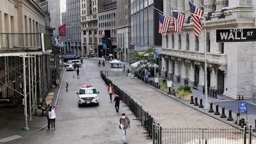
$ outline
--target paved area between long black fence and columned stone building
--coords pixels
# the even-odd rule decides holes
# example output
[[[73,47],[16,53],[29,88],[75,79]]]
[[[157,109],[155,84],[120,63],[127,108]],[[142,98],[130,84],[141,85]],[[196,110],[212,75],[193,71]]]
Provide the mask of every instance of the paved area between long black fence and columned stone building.
[[[128,67],[127,67],[128,66]],[[129,65],[125,65],[125,68],[129,68]],[[217,128],[217,127],[237,127],[235,124],[236,113],[238,113],[239,102],[246,102],[248,113],[241,113],[241,117],[244,116],[245,120],[248,118],[248,124],[255,128],[256,119],[256,104],[252,103],[252,99],[248,100],[231,100],[221,95],[218,95],[218,99],[208,97],[208,102],[212,102],[212,109],[214,113],[216,111],[216,105],[219,105],[220,115],[214,115],[209,113],[205,108],[199,108],[190,104],[189,101],[181,100],[174,95],[169,95],[167,92],[163,92],[154,86],[147,84],[140,79],[127,77],[125,72],[108,73],[108,79],[113,84],[118,86],[124,92],[129,93],[131,97],[142,106],[145,111],[148,111],[163,127],[202,127],[202,128]],[[152,77],[154,79],[154,77]],[[175,88],[179,84],[174,83]],[[205,95],[198,90],[193,89],[193,97],[197,97],[198,104],[202,99],[202,104],[205,104]],[[194,100],[195,102],[195,100]],[[221,118],[222,108],[225,108],[226,118]],[[228,121],[229,111],[232,110],[232,118],[234,120]],[[240,118],[241,118],[240,117]]]

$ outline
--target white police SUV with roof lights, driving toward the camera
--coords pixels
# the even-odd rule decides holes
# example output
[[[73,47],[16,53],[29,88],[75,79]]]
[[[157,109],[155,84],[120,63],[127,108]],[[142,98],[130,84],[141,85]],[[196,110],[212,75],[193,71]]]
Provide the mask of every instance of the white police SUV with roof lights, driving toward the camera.
[[[86,104],[99,106],[99,92],[92,85],[83,84],[77,93],[78,107]]]

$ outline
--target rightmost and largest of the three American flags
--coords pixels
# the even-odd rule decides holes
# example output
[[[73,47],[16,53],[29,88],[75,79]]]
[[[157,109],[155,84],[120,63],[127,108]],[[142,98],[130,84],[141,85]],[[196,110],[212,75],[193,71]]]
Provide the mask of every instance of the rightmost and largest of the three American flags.
[[[195,15],[192,15],[192,20],[193,20],[193,26],[194,26],[194,31],[195,35],[198,36],[202,30],[202,24],[201,24],[201,18],[202,15],[204,14],[204,11],[200,10],[197,8],[193,3],[189,1],[189,6],[190,6],[190,11],[191,13],[194,13]]]

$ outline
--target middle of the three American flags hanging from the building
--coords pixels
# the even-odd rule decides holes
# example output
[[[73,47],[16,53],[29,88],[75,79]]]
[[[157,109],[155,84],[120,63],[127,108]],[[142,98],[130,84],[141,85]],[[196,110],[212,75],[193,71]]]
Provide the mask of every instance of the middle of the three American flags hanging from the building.
[[[172,12],[173,15],[173,31],[182,33],[185,16],[179,12]]]

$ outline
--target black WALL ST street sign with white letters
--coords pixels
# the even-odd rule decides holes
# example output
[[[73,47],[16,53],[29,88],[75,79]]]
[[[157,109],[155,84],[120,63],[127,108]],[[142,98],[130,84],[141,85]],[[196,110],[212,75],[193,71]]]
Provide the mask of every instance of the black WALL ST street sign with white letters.
[[[253,42],[256,41],[255,28],[216,29],[216,42]]]

